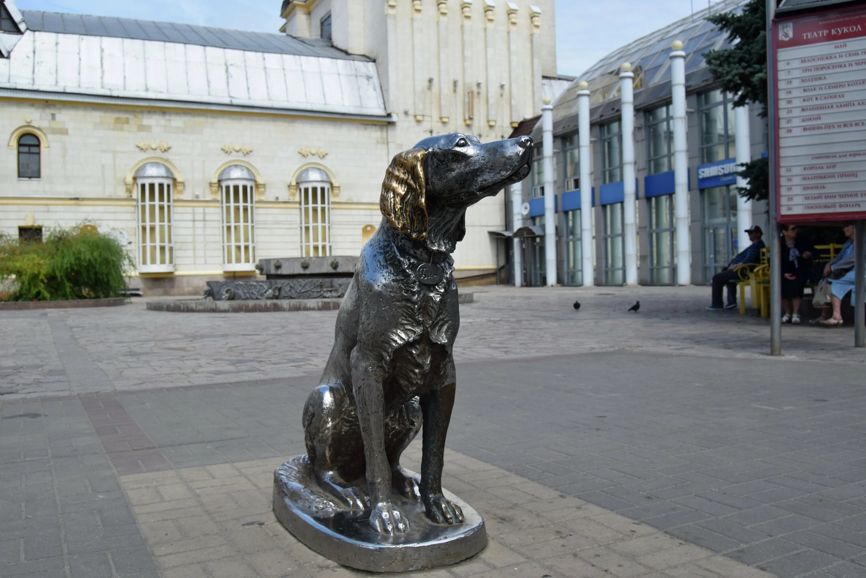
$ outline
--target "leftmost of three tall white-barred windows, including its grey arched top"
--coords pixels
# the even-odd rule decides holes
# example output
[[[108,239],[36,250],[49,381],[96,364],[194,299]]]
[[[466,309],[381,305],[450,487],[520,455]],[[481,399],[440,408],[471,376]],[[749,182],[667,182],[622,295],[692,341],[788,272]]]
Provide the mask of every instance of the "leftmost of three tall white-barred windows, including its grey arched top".
[[[174,270],[171,237],[171,197],[174,175],[162,163],[146,163],[135,172],[139,202],[139,271]]]

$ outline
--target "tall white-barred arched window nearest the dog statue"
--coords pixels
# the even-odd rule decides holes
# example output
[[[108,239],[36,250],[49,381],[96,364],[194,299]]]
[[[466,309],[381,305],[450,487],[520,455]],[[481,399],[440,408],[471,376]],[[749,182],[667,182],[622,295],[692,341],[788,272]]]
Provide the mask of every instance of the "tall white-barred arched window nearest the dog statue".
[[[301,199],[301,257],[331,255],[331,178],[310,166],[298,175]]]

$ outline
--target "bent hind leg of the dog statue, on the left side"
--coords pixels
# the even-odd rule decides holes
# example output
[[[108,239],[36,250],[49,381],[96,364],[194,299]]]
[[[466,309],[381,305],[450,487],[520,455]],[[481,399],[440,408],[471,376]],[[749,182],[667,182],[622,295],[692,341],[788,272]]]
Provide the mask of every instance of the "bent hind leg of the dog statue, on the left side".
[[[346,387],[338,381],[316,387],[304,406],[303,424],[307,455],[322,490],[350,508],[368,509],[364,442]]]

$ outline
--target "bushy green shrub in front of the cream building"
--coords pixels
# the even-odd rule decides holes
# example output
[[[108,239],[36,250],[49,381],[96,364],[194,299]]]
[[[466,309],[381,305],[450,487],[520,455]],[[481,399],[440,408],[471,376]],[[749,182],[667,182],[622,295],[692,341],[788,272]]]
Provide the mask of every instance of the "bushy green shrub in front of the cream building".
[[[0,284],[10,301],[57,301],[120,296],[132,259],[108,235],[81,225],[48,231],[42,243],[0,234]]]

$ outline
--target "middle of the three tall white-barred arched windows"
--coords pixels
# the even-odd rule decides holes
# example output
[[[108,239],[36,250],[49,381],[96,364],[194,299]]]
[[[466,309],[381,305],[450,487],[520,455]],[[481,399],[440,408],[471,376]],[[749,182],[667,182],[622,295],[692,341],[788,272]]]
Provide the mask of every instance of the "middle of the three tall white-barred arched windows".
[[[223,216],[223,270],[255,268],[255,175],[246,166],[223,169],[217,179]]]

